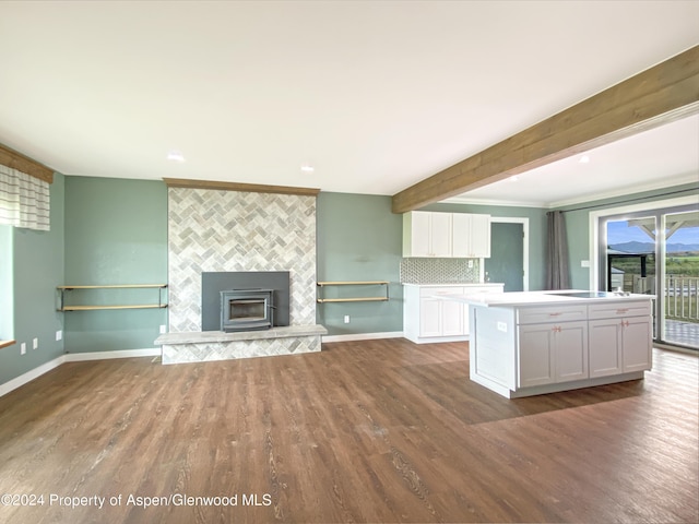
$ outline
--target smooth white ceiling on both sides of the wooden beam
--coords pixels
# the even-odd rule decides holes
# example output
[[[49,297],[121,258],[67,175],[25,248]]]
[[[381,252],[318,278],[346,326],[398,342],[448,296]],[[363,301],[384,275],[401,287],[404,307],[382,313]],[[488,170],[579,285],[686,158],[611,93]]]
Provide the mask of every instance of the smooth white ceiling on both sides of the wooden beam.
[[[698,43],[695,0],[5,0],[0,143],[66,175],[394,194]],[[698,130],[466,196],[550,205],[696,180]]]

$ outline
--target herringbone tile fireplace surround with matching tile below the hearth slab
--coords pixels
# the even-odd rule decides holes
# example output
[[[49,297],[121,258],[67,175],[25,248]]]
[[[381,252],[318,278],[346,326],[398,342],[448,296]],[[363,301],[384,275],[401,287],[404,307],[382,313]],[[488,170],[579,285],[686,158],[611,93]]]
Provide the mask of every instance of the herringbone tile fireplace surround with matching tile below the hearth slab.
[[[316,324],[316,196],[168,189],[169,332],[201,331],[201,274],[214,271],[288,271],[291,279],[289,324]],[[320,337],[289,343],[293,353],[320,349]],[[277,355],[279,338],[245,356]],[[210,355],[201,344],[180,345],[180,357],[168,360],[238,358],[212,344]],[[216,346],[216,347],[214,347]],[[249,344],[248,344],[249,346]],[[171,348],[164,345],[163,361]],[[222,357],[223,352],[223,357]],[[227,356],[226,356],[227,355]],[[167,362],[166,362],[167,364]]]

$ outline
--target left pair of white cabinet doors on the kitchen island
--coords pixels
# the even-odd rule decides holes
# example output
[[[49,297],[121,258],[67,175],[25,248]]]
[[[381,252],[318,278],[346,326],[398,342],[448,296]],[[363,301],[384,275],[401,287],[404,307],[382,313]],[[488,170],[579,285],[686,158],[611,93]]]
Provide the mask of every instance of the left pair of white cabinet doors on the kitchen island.
[[[588,378],[588,323],[559,322],[518,327],[518,386]]]

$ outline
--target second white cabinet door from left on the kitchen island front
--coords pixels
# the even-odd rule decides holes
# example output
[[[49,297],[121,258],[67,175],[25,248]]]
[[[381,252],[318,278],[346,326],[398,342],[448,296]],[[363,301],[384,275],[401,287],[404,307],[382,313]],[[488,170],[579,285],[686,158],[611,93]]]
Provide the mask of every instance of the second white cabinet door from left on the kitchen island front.
[[[588,378],[588,322],[561,322],[554,326],[556,382]]]

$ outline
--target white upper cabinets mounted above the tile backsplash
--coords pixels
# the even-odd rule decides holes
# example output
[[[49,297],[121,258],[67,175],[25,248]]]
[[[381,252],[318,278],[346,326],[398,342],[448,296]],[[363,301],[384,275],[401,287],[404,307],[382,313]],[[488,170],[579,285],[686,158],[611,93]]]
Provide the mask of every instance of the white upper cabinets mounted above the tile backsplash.
[[[403,257],[490,257],[490,216],[413,211],[403,215]]]

